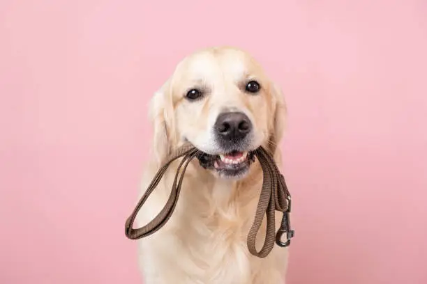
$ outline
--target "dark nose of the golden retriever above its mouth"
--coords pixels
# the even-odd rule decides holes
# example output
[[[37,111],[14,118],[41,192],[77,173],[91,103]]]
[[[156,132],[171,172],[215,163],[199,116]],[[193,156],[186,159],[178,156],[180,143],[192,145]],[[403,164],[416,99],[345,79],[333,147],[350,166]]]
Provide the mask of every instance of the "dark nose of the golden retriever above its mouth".
[[[239,141],[252,130],[252,123],[241,112],[221,113],[215,123],[216,134],[226,141]]]

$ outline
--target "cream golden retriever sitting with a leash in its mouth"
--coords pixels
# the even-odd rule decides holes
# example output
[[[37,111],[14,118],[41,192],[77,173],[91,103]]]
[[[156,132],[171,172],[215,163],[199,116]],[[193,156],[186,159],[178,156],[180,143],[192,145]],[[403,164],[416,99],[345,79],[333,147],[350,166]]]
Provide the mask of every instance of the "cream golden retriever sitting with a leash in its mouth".
[[[246,237],[262,188],[262,169],[250,151],[276,148],[285,129],[283,92],[242,49],[209,47],[186,56],[149,105],[151,153],[141,195],[183,143],[204,154],[190,162],[170,220],[138,241],[145,284],[285,283],[287,248],[251,255]],[[281,165],[280,148],[272,150]],[[177,171],[174,161],[137,215],[151,221],[165,205]],[[279,215],[279,216],[278,216]],[[276,214],[276,228],[280,226]],[[265,237],[265,218],[257,250]]]

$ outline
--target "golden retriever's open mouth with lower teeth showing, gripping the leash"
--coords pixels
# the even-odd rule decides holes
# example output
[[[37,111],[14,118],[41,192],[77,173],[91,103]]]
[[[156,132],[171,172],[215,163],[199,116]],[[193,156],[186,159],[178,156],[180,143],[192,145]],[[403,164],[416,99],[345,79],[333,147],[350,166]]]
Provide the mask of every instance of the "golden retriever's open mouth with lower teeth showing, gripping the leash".
[[[209,155],[202,152],[197,155],[200,166],[216,171],[223,178],[239,178],[245,175],[255,161],[255,154],[252,151],[240,152],[234,150],[221,155]]]

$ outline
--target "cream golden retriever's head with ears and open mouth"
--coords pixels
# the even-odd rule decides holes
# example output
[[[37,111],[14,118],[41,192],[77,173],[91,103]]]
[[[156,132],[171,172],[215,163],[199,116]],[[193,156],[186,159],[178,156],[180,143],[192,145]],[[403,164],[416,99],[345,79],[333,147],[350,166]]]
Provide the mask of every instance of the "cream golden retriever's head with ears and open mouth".
[[[153,151],[159,164],[188,141],[204,152],[200,164],[223,178],[242,178],[260,145],[283,134],[280,89],[246,52],[204,49],[183,59],[151,100]]]

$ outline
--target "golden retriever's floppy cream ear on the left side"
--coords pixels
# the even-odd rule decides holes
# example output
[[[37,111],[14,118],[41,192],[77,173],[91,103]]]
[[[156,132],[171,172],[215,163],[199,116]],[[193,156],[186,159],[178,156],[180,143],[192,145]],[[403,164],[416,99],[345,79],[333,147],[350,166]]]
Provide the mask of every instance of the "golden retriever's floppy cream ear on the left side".
[[[149,119],[153,127],[152,154],[156,164],[163,164],[170,155],[173,136],[173,105],[170,81],[154,93],[149,104]]]

